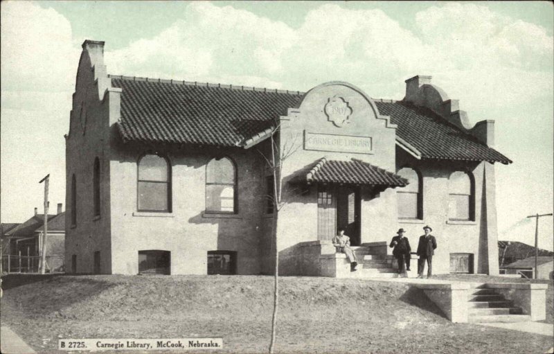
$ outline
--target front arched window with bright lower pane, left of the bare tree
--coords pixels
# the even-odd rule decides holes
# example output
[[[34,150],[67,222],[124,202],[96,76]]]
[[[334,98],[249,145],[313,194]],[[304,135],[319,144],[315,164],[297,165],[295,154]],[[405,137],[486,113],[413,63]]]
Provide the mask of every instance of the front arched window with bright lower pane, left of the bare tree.
[[[231,159],[212,159],[206,166],[206,211],[235,213],[236,173]]]

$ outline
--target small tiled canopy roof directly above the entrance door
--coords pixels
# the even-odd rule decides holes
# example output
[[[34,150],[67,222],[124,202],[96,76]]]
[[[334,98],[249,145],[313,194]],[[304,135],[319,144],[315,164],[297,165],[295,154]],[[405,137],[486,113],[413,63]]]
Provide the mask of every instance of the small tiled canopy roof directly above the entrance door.
[[[408,181],[393,172],[388,172],[370,163],[352,159],[317,161],[306,175],[306,182],[364,184],[370,186],[406,186]]]

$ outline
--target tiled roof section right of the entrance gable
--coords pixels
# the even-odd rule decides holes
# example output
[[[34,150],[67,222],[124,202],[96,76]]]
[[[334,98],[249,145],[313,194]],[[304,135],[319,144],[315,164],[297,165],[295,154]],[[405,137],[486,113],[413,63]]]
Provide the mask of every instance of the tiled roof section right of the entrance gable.
[[[422,159],[512,162],[430,109],[402,102],[375,103],[380,114],[391,116],[398,125],[396,136],[416,148]]]

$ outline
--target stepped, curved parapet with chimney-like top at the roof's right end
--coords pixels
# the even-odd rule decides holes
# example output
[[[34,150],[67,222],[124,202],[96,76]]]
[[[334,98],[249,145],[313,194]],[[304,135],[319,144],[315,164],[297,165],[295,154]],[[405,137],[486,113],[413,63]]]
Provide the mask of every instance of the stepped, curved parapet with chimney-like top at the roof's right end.
[[[443,89],[431,84],[431,76],[414,76],[406,82],[406,96],[404,101],[418,107],[431,109],[445,118],[449,123],[472,134],[488,146],[494,145],[494,121],[480,121],[471,126],[467,113],[460,109],[458,100],[448,98]]]

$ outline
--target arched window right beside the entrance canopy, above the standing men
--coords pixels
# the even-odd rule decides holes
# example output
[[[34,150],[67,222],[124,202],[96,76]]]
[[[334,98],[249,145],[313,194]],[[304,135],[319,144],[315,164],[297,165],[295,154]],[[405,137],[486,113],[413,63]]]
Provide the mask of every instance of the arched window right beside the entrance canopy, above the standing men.
[[[423,219],[422,181],[417,171],[404,167],[397,175],[408,180],[409,184],[397,192],[398,218]]]

